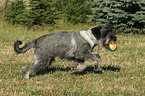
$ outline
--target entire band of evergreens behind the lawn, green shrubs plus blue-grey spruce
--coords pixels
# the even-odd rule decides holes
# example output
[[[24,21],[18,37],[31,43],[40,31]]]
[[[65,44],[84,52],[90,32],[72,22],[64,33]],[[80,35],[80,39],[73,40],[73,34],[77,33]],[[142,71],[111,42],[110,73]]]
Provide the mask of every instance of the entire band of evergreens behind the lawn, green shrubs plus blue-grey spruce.
[[[125,33],[145,33],[144,0],[15,0],[5,11],[13,24],[55,24],[58,19],[70,23],[112,23]],[[29,3],[29,4],[27,4]]]

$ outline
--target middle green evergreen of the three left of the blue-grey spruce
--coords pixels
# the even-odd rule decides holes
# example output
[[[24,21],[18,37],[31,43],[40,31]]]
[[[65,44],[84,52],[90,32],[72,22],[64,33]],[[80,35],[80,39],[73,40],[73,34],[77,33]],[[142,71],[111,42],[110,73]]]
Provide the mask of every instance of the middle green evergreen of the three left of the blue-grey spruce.
[[[31,0],[29,6],[31,9],[27,13],[28,26],[55,24],[59,12],[54,4],[55,1],[53,0]]]

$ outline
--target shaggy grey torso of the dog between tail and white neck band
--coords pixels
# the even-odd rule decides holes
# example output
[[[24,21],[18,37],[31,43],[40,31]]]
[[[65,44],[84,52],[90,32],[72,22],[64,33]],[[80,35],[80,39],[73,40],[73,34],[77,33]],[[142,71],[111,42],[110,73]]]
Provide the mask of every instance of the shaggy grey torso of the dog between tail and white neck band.
[[[86,44],[89,46],[79,32],[58,32],[36,39],[35,53],[43,57],[74,58],[74,54],[83,51],[81,47]]]

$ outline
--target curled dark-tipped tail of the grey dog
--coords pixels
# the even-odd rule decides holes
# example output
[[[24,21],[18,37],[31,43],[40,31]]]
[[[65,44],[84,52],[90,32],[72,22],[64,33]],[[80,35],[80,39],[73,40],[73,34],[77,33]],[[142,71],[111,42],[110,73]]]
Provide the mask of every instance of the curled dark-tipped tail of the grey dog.
[[[34,47],[34,41],[26,43],[22,48],[19,48],[19,45],[21,44],[22,44],[22,41],[19,41],[19,40],[14,43],[14,50],[17,54],[25,53],[30,48]]]

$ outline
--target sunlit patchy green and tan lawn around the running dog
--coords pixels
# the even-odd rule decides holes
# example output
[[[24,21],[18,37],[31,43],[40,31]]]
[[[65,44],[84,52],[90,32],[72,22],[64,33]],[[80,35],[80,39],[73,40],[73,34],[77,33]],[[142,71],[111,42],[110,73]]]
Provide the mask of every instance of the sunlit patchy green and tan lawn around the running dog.
[[[24,43],[41,35],[62,30],[74,31],[91,28],[91,25],[65,25],[42,30],[26,30],[0,21],[0,94],[1,96],[143,96],[145,94],[145,35],[118,34],[118,49],[101,52],[103,70],[93,71],[88,61],[84,74],[71,75],[73,62],[56,59],[46,75],[25,80],[21,68],[33,63],[32,49],[25,54],[14,53],[13,44]]]

